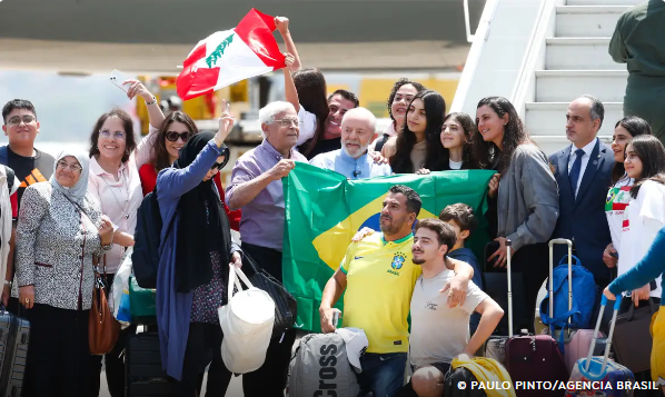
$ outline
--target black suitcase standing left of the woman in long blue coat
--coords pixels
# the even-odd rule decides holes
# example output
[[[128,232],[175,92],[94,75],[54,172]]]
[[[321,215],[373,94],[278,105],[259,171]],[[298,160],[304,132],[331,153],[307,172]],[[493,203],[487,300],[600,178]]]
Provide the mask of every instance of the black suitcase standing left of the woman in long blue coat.
[[[178,388],[168,381],[161,369],[159,335],[141,333],[127,338],[125,349],[125,396],[178,396]]]

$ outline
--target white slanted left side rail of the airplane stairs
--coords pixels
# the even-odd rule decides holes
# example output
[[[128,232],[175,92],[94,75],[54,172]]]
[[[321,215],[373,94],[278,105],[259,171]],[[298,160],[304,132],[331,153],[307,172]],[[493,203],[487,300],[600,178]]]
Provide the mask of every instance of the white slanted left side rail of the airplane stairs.
[[[480,54],[483,53],[483,48],[485,47],[485,42],[487,42],[487,38],[489,37],[489,29],[492,27],[492,20],[494,19],[498,1],[499,0],[487,0],[485,8],[483,9],[483,14],[480,16],[480,21],[478,22],[478,28],[474,34],[470,34],[468,0],[464,0],[466,36],[467,40],[472,42],[472,48],[469,49],[469,53],[466,58],[466,63],[461,72],[461,77],[459,78],[457,90],[455,91],[453,105],[450,105],[451,112],[463,111],[468,91],[470,89],[472,82],[474,81],[474,77],[476,76],[476,69],[478,68],[478,61],[480,59]]]

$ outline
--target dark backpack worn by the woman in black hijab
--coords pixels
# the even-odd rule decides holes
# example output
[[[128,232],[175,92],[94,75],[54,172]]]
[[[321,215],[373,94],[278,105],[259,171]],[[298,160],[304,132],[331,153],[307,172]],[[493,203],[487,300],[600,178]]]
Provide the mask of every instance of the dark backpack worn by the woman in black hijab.
[[[173,216],[172,219],[175,218]],[[169,228],[172,225],[172,219]],[[137,228],[133,234],[131,265],[133,267],[133,276],[141,288],[157,287],[161,227],[161,214],[159,212],[159,202],[157,201],[157,187],[155,187],[155,190],[143,197],[139,206]]]

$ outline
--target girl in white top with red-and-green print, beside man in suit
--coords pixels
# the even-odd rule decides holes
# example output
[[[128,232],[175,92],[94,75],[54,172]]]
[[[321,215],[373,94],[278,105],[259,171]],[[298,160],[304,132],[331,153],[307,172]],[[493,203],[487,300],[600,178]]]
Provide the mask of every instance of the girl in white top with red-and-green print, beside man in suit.
[[[624,158],[626,145],[641,135],[651,135],[652,128],[645,120],[635,117],[624,117],[617,121],[612,137],[612,150],[614,151],[614,169],[612,170],[612,188],[607,192],[605,201],[605,215],[609,225],[612,242],[603,252],[603,261],[607,267],[614,268],[617,264],[618,249],[621,248],[624,212],[631,201],[631,187],[635,183],[633,178],[626,175]]]

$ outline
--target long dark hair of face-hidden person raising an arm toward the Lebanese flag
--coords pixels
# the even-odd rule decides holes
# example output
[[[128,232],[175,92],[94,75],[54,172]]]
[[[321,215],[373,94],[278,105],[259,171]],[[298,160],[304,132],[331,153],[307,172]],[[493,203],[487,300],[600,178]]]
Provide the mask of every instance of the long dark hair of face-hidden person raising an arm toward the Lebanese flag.
[[[317,141],[324,133],[324,123],[330,112],[328,98],[326,98],[328,88],[324,73],[316,68],[305,68],[295,72],[294,85],[296,86],[296,91],[298,91],[300,106],[316,116],[316,131],[314,132],[314,137],[305,143],[304,155],[307,156],[314,150]]]

